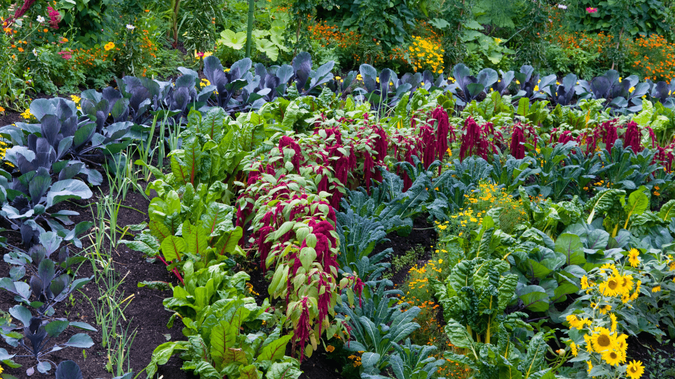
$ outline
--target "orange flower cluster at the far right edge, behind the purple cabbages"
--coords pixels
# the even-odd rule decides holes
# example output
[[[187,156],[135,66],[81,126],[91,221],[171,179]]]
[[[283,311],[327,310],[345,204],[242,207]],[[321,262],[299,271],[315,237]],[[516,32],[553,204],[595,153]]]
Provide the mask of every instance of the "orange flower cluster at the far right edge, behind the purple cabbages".
[[[637,38],[628,49],[630,66],[645,80],[675,78],[675,44],[658,34]]]

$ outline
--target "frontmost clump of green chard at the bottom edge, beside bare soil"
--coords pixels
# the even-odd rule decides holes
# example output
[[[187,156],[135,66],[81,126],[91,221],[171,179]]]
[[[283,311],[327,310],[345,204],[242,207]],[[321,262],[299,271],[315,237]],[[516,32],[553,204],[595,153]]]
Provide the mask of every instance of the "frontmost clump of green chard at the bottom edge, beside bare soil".
[[[148,378],[157,372],[158,364],[178,352],[186,360],[182,369],[203,379],[300,376],[298,361],[285,355],[292,335],[282,337],[281,326],[273,328],[275,315],[266,312],[267,301],[261,306],[245,297],[248,274],[230,276],[223,268],[215,264],[192,271],[189,262],[184,266],[186,286],[174,287],[173,297],[165,299],[164,305],[177,312],[170,324],[180,315],[188,341],[159,345],[146,368]],[[263,325],[269,331],[260,330]],[[252,332],[244,334],[248,330]]]

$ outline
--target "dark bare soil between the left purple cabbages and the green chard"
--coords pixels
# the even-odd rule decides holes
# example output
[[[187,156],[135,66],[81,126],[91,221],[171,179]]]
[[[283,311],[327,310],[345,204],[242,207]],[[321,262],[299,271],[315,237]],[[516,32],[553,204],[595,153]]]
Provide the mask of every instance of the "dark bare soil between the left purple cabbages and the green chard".
[[[103,173],[105,177],[105,173]],[[63,202],[63,206],[58,204],[55,208],[60,209],[69,209],[80,212],[79,216],[72,216],[71,220],[74,223],[81,221],[92,221],[92,208],[95,210],[95,202],[103,195],[109,192],[107,183],[99,187],[92,188],[94,196],[88,200],[78,200],[74,202]],[[91,204],[92,207],[88,206]],[[118,226],[121,229],[124,229],[126,225],[138,224],[143,221],[148,221],[148,217],[145,212],[148,209],[148,200],[146,200],[141,194],[137,192],[129,192],[127,198],[122,202],[124,206],[130,207],[119,208],[118,214]],[[132,209],[135,208],[136,210]],[[137,210],[140,210],[138,212]],[[8,230],[9,225],[0,225],[0,227],[5,227]],[[5,231],[3,235],[7,236],[8,242],[13,245],[20,245],[20,236],[16,232]],[[88,237],[80,237],[82,240],[82,249],[70,246],[70,254],[84,254],[83,250],[86,250],[87,247],[91,245],[91,241]],[[127,235],[126,239],[132,239],[132,236]],[[108,244],[105,243],[105,250],[107,250]],[[7,251],[0,249],[0,254],[5,254]],[[159,291],[155,289],[149,289],[148,287],[137,287],[137,284],[141,281],[166,281],[170,282],[173,285],[177,283],[175,276],[168,272],[165,268],[165,265],[156,260],[153,263],[146,262],[146,259],[139,252],[135,252],[126,247],[126,245],[118,245],[117,249],[112,251],[113,262],[115,265],[115,272],[117,274],[117,280],[123,280],[123,283],[119,287],[119,291],[124,293],[126,298],[129,295],[134,297],[130,301],[126,310],[124,310],[124,316],[129,320],[129,332],[136,331],[136,339],[131,347],[130,351],[130,363],[132,370],[134,372],[139,372],[150,362],[151,355],[153,350],[158,345],[165,343],[166,341],[176,341],[184,339],[182,335],[182,328],[180,322],[174,324],[173,328],[167,329],[167,322],[171,316],[170,312],[164,310],[162,301],[165,297],[170,297],[170,291]],[[79,268],[77,272],[78,278],[92,276],[92,267],[88,261],[85,261]],[[9,265],[6,262],[0,261],[0,276],[9,275]],[[104,349],[101,346],[101,329],[96,324],[94,318],[94,312],[92,307],[87,299],[91,301],[98,301],[99,291],[96,288],[96,284],[92,281],[85,285],[81,293],[74,293],[72,299],[66,299],[62,303],[59,303],[55,306],[56,313],[54,317],[63,317],[68,318],[70,321],[82,321],[88,322],[88,324],[94,326],[94,328],[99,329],[97,332],[83,331],[75,328],[68,328],[63,332],[56,341],[53,343],[64,343],[68,339],[78,332],[86,332],[92,337],[94,345],[89,349],[85,349],[86,358],[82,349],[76,348],[65,348],[55,353],[51,353],[47,356],[51,361],[58,363],[65,359],[72,359],[78,363],[85,378],[112,378],[113,374],[110,374],[105,370],[105,365],[107,363],[107,349]],[[16,305],[13,297],[7,291],[0,291],[0,310],[7,310]],[[15,321],[16,323],[16,321]],[[20,324],[20,322],[18,322]],[[124,324],[126,328],[126,323]],[[12,348],[9,345],[3,344],[3,348],[11,354],[18,353],[19,355],[24,355],[25,352],[20,348]],[[17,378],[26,378],[26,369],[30,368],[35,364],[33,358],[28,357],[16,357],[14,359],[17,363],[22,364],[21,368],[5,368],[5,373],[12,374]],[[192,375],[188,375],[186,372],[180,370],[182,366],[182,361],[178,356],[173,356],[167,364],[159,366],[158,374],[159,376],[164,376],[164,378],[194,378]],[[126,366],[125,366],[126,367]],[[51,370],[49,376],[39,374],[36,372],[34,377],[45,378],[53,377],[54,369]],[[144,374],[141,375],[144,378]]]

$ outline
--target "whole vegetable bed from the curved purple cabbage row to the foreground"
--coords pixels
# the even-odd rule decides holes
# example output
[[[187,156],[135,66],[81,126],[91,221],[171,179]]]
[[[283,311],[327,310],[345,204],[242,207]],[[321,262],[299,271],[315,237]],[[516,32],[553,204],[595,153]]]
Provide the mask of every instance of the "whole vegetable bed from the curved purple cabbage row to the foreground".
[[[672,376],[675,79],[232,60],[0,127],[2,378]]]

